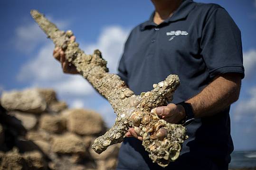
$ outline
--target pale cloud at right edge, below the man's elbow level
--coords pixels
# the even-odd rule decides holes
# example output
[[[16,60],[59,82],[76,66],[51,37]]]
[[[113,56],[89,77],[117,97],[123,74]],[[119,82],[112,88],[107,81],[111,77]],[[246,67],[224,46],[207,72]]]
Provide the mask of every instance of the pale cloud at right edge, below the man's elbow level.
[[[250,97],[246,100],[240,100],[234,109],[235,121],[239,121],[245,116],[251,116],[256,121],[256,86],[249,89],[248,93]]]

